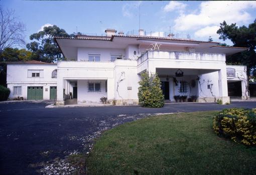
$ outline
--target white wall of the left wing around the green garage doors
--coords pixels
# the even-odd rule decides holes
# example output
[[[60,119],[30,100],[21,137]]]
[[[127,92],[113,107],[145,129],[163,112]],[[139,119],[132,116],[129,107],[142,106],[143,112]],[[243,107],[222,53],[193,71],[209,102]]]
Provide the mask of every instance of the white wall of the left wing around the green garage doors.
[[[57,78],[52,78],[52,71],[57,69],[56,64],[8,64],[7,86],[11,93],[9,98],[23,97],[27,99],[28,86],[43,86],[43,99],[50,99],[50,86],[57,86]],[[28,70],[44,70],[43,77],[28,77]],[[22,95],[14,95],[13,87],[22,86]]]

